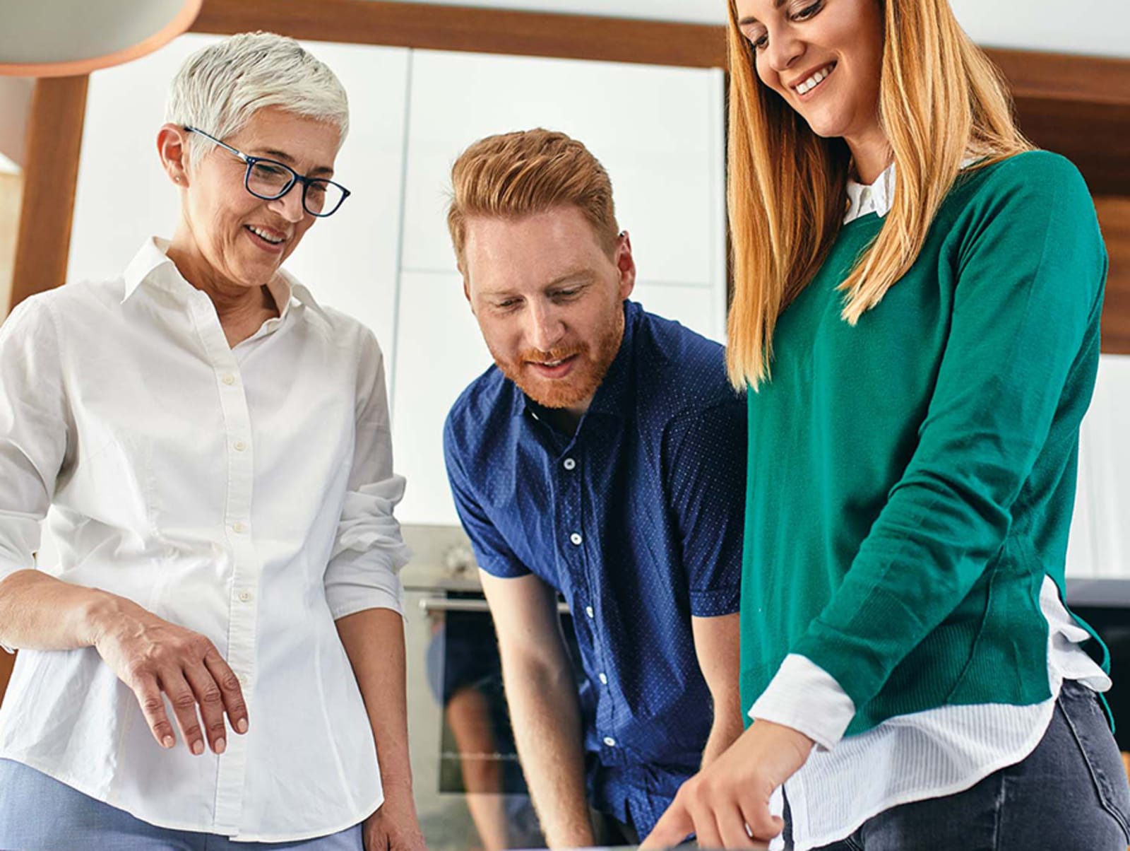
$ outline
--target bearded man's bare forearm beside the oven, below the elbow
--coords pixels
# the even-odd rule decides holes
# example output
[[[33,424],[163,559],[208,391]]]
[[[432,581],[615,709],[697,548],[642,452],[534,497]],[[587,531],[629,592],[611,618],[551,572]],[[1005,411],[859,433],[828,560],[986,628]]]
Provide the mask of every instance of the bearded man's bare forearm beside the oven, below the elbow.
[[[571,672],[507,664],[503,678],[518,755],[550,848],[591,845],[584,747]]]

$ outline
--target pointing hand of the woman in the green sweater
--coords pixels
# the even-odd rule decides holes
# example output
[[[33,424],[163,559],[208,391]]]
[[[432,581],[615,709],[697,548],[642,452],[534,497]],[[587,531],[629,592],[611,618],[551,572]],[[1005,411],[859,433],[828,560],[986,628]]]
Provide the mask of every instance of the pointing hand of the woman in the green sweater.
[[[779,835],[784,823],[770,815],[770,797],[805,764],[812,745],[790,727],[755,722],[683,784],[641,849],[673,848],[692,833],[699,848],[754,848]]]

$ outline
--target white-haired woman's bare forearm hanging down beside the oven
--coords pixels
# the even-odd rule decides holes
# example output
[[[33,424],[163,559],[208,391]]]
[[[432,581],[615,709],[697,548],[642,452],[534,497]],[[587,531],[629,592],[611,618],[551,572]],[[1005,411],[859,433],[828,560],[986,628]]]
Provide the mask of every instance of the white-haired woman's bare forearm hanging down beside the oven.
[[[366,609],[337,627],[373,728],[384,797],[410,802],[403,618],[391,609]]]

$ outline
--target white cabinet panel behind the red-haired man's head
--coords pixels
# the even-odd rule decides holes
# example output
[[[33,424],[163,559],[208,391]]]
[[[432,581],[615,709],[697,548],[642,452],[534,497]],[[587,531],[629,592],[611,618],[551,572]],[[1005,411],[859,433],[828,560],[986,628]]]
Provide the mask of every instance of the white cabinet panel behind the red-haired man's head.
[[[721,71],[417,51],[410,115],[406,269],[453,267],[443,214],[459,153],[546,127],[608,170],[652,280],[724,286]]]

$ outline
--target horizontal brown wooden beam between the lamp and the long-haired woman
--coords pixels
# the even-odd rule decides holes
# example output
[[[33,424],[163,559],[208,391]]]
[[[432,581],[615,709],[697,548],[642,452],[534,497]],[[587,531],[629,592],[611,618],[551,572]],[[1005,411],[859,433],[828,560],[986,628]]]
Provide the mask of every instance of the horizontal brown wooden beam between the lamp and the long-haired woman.
[[[383,0],[205,0],[192,31],[232,34],[264,25],[314,41],[694,68],[725,65],[720,26]]]

